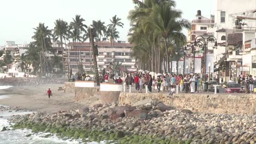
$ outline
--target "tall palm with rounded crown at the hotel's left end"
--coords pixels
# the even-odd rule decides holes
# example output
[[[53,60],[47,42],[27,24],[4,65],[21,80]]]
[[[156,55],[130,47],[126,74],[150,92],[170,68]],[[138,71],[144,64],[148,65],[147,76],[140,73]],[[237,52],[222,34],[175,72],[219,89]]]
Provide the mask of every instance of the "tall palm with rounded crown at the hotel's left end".
[[[63,56],[64,48],[63,48],[62,39],[63,38],[65,39],[68,36],[68,23],[66,21],[59,19],[59,20],[56,20],[54,24],[55,24],[55,27],[54,27],[53,35],[56,37],[56,39],[60,38],[61,50],[62,50],[62,65],[63,65],[63,70],[65,70],[64,56]]]

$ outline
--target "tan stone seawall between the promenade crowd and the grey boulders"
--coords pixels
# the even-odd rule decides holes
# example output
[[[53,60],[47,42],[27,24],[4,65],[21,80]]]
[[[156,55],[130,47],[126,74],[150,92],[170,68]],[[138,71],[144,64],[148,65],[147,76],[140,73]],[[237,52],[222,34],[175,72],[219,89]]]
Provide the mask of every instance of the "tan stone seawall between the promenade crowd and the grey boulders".
[[[256,114],[256,95],[250,94],[174,94],[167,93],[120,93],[119,105],[139,105],[162,101],[176,109],[189,109],[202,113],[251,113]],[[139,103],[141,101],[141,103]]]

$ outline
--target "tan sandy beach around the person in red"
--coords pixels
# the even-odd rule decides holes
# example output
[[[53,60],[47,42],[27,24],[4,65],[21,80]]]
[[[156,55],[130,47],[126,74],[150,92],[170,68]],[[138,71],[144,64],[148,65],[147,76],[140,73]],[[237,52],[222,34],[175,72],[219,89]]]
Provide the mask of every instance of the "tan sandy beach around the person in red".
[[[75,93],[57,91],[61,84],[44,84],[37,86],[19,86],[3,89],[0,95],[9,95],[9,98],[0,99],[0,105],[19,106],[22,109],[37,112],[57,112],[63,110],[77,110],[85,106],[100,103],[99,97],[91,97],[83,102],[75,102]],[[46,94],[48,88],[53,92],[50,99]]]

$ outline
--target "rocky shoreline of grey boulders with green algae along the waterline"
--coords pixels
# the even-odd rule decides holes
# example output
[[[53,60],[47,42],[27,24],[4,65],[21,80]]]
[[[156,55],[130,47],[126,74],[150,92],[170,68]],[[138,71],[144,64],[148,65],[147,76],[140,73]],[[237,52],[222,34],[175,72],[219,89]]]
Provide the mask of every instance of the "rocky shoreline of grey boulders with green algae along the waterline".
[[[158,101],[132,106],[97,104],[77,111],[13,116],[14,129],[109,143],[256,143],[256,115],[193,113]]]

